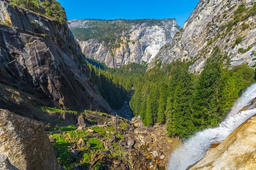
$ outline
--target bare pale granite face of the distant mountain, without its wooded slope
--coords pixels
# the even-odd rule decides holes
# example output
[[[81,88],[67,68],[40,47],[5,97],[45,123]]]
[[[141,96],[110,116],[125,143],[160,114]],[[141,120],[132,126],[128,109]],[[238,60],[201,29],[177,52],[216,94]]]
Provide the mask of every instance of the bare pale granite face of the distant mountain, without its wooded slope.
[[[73,28],[86,30],[87,28],[96,27],[96,25],[89,25],[91,22],[99,21],[70,20],[69,28],[71,30]],[[123,24],[122,20],[105,22]],[[119,68],[130,62],[151,62],[160,48],[172,41],[176,31],[179,29],[175,19],[161,20],[158,24],[149,24],[148,22],[130,24],[128,29],[116,34],[115,43],[117,47],[111,47],[105,41],[94,38],[84,41],[82,40],[83,38],[76,36],[76,34],[74,35],[78,38],[77,40],[85,57],[104,62],[111,68]]]

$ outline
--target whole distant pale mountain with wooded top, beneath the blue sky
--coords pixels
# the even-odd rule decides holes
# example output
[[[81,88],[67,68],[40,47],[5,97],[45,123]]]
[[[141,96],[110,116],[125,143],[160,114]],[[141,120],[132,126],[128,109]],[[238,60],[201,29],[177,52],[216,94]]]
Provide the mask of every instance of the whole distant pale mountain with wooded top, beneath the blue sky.
[[[68,26],[85,57],[111,68],[151,62],[180,29],[175,19],[70,20]]]

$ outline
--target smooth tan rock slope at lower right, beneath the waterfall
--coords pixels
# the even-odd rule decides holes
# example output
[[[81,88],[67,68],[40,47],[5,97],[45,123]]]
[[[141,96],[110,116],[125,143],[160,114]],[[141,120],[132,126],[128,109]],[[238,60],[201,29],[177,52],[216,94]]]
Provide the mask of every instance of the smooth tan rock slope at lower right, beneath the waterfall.
[[[198,161],[191,170],[253,170],[256,167],[256,115]]]

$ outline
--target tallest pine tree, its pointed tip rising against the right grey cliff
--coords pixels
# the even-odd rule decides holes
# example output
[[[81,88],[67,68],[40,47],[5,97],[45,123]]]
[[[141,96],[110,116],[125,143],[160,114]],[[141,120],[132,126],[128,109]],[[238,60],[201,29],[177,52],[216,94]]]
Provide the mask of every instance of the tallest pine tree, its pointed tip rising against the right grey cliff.
[[[207,59],[198,85],[195,90],[194,123],[195,126],[211,127],[218,125],[221,119],[220,97],[223,70],[223,55],[218,47],[214,49],[212,57]],[[202,127],[201,127],[202,126]]]

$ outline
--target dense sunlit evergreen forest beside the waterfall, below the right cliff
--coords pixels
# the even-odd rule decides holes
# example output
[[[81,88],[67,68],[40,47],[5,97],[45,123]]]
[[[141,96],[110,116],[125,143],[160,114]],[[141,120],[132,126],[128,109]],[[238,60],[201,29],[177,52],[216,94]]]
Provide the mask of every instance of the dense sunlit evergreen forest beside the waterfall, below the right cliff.
[[[186,139],[198,130],[218,126],[241,92],[254,82],[247,65],[230,68],[230,59],[215,47],[199,75],[192,62],[161,63],[134,82],[130,106],[145,126],[165,123],[170,136]]]

